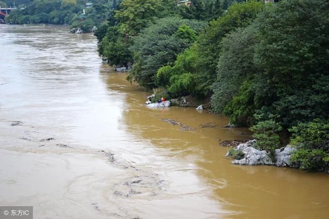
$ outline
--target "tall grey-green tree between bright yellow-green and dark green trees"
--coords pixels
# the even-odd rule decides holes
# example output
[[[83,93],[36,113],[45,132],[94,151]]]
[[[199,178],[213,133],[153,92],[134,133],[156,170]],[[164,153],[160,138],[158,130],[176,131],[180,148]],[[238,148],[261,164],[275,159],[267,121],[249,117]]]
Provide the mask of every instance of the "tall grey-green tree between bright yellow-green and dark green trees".
[[[242,83],[248,77],[257,74],[258,69],[253,63],[255,44],[257,42],[255,25],[250,25],[247,28],[239,28],[228,34],[221,42],[223,50],[217,65],[217,79],[212,85],[214,94],[211,97],[211,104],[215,113],[223,113],[228,103],[239,92]],[[253,96],[250,98],[250,101],[253,103]],[[242,105],[241,107],[245,106]],[[250,114],[247,115],[247,112]],[[244,118],[251,122],[250,117],[253,116],[254,112],[242,108],[240,113],[233,111],[232,113],[238,116],[240,113],[244,113]],[[232,114],[228,115],[232,117]],[[237,118],[232,118],[237,121]],[[246,121],[240,121],[240,123],[250,125]]]

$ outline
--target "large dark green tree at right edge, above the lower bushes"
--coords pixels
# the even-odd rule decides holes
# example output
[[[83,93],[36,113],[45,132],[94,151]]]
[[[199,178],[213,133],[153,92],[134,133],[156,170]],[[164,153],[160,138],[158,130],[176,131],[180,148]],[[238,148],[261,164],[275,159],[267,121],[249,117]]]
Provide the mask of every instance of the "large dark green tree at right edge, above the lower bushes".
[[[278,110],[291,127],[328,115],[329,3],[320,0],[282,1],[258,18],[261,41],[255,63],[257,98]]]

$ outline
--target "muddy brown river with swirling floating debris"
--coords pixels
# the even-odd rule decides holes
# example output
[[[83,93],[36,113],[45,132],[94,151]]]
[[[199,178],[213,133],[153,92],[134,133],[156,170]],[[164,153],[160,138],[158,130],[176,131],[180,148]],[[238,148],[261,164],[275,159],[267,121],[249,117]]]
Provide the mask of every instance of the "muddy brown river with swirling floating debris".
[[[329,175],[231,165],[218,141],[246,129],[145,107],[149,93],[101,62],[95,36],[0,25],[0,48],[0,206],[43,219],[328,218]]]

